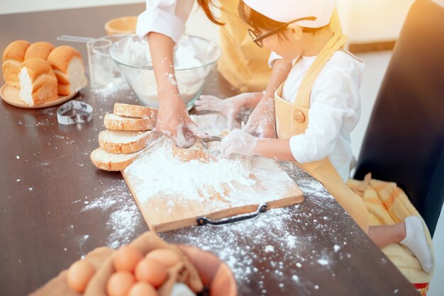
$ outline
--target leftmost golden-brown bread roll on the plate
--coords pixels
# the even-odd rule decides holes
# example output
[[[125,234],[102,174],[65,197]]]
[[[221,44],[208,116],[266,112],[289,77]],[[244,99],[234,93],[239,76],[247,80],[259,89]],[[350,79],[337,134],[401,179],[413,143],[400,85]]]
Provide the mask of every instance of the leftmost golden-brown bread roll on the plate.
[[[30,42],[25,40],[16,40],[9,44],[3,52],[3,78],[6,84],[16,87],[20,87],[18,81],[18,73],[20,72],[21,63],[25,59],[26,50]]]

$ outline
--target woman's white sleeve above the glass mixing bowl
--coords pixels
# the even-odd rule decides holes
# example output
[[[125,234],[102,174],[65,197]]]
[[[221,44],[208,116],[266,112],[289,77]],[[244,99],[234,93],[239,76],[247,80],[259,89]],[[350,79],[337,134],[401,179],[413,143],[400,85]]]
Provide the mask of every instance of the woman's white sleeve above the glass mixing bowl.
[[[185,31],[185,23],[194,0],[146,0],[146,10],[140,13],[135,33],[140,38],[150,32],[167,35],[177,42]]]

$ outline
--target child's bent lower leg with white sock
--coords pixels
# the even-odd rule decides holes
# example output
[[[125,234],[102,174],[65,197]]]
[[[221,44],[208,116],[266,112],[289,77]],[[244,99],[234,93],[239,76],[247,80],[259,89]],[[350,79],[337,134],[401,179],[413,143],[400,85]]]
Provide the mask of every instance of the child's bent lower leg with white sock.
[[[433,270],[432,252],[427,244],[423,223],[418,217],[410,216],[394,225],[369,227],[368,235],[380,248],[387,244],[404,244],[418,258],[424,271],[431,273]]]

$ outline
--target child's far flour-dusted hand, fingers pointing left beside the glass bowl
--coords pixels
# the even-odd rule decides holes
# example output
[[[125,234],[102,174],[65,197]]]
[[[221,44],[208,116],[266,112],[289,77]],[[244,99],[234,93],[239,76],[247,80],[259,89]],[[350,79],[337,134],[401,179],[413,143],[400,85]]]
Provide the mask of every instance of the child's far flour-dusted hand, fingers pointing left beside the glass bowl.
[[[235,126],[235,118],[243,107],[247,107],[252,93],[240,93],[238,96],[220,99],[216,96],[200,96],[196,100],[196,110],[209,110],[220,112],[227,117],[227,125],[230,130]]]

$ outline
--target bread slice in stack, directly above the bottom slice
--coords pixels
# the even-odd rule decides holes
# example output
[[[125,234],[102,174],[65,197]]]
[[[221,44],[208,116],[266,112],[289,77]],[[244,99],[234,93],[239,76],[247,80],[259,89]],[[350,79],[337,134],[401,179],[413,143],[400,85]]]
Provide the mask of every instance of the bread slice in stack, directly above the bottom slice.
[[[161,133],[157,130],[148,132],[133,132],[126,130],[104,130],[99,133],[99,145],[106,152],[128,154],[138,152],[147,147]]]

